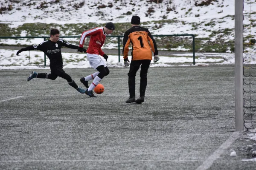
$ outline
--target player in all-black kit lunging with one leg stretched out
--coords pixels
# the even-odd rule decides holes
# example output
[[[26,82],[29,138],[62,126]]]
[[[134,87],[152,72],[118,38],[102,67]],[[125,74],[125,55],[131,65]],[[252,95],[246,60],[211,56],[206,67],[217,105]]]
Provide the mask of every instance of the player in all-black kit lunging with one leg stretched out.
[[[50,68],[51,73],[36,73],[35,71],[32,71],[32,73],[28,77],[28,81],[33,78],[39,78],[39,79],[51,79],[55,80],[57,77],[61,77],[63,79],[66,79],[68,84],[75,88],[77,91],[79,91],[81,94],[85,93],[85,90],[80,88],[76,82],[65,73],[63,70],[63,62],[62,62],[62,56],[61,56],[61,47],[65,46],[67,48],[72,49],[78,49],[79,46],[72,45],[67,41],[64,41],[62,39],[59,39],[60,31],[58,29],[52,29],[50,33],[50,39],[48,41],[44,41],[39,45],[31,45],[26,48],[21,48],[17,52],[17,56],[22,51],[30,51],[30,50],[40,50],[43,51],[44,54],[47,55],[47,57],[50,59]],[[86,52],[86,50],[83,48],[83,52]]]

